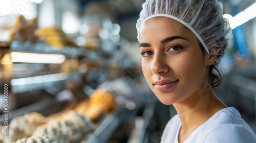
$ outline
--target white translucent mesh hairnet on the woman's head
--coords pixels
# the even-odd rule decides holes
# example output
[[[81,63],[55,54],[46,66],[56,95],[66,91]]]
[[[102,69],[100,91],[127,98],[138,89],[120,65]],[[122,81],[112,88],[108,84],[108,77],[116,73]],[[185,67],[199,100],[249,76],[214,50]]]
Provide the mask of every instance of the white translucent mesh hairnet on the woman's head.
[[[209,55],[218,55],[216,66],[232,40],[229,22],[222,12],[222,3],[216,0],[146,0],[136,23],[138,40],[140,27],[147,19],[169,17],[193,32]]]

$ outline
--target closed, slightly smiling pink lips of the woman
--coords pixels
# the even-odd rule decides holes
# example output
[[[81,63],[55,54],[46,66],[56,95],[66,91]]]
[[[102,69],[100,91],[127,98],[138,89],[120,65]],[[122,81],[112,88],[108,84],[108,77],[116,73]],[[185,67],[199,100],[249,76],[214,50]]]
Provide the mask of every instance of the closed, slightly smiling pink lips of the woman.
[[[174,87],[178,81],[179,80],[161,80],[155,81],[153,84],[157,90],[164,92]]]

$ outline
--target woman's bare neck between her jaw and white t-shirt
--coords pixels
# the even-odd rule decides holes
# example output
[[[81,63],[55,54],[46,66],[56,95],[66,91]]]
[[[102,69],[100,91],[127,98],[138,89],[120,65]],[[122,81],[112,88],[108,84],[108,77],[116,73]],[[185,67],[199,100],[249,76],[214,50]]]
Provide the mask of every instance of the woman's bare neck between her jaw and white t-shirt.
[[[203,94],[189,96],[182,102],[173,104],[182,123],[180,135],[187,138],[195,129],[204,124],[212,115],[227,106],[210,89]]]

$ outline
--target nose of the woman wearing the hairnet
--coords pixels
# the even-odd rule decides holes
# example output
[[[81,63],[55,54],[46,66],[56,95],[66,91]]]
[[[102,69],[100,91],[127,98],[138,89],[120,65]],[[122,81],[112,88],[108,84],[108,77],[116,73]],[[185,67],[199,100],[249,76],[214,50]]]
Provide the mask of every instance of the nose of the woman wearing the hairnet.
[[[164,55],[157,53],[154,54],[153,63],[151,65],[151,71],[156,75],[168,73],[169,67],[167,65],[167,61]]]

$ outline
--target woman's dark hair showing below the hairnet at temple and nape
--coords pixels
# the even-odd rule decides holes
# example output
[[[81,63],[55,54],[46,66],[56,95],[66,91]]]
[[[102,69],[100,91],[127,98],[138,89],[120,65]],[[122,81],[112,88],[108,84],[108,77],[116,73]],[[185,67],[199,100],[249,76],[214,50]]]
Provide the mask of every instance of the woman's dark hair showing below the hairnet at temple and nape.
[[[199,44],[200,44],[200,49],[201,49],[203,55],[205,55],[206,51],[205,51],[202,43],[199,42]],[[217,71],[218,74],[216,72],[214,72],[214,69]],[[209,66],[209,83],[210,83],[211,87],[214,88],[214,87],[219,86],[221,84],[221,80],[222,80],[222,77],[221,77],[221,73],[218,70],[218,68],[215,67],[214,64],[210,65]]]

